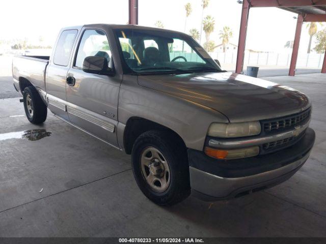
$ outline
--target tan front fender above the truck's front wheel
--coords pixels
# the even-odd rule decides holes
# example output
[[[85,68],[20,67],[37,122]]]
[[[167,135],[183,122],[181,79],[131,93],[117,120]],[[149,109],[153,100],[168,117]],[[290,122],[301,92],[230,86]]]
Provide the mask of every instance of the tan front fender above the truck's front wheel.
[[[197,150],[203,149],[211,123],[229,122],[216,110],[140,86],[137,76],[125,75],[119,96],[119,123],[126,125],[130,117],[145,118],[165,126],[176,132],[188,148]],[[118,140],[120,137],[123,133],[118,129]]]

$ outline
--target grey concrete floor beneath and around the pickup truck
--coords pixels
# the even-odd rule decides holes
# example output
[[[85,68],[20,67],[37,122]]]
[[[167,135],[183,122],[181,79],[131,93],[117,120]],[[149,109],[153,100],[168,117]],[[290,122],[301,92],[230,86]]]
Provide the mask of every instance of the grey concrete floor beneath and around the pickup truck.
[[[51,114],[34,126],[15,116],[24,114],[19,98],[0,100],[0,236],[326,237],[326,75],[266,79],[312,99],[312,155],[283,184],[212,205],[189,197],[156,206],[135,184],[129,156]],[[51,135],[4,139],[31,129]]]

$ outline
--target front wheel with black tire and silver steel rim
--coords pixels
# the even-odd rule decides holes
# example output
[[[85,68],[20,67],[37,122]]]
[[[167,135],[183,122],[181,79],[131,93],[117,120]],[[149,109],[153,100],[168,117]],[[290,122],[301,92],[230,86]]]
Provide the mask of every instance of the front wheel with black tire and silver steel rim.
[[[176,204],[190,194],[186,148],[178,141],[167,131],[148,131],[132,147],[133,176],[144,195],[158,205]]]

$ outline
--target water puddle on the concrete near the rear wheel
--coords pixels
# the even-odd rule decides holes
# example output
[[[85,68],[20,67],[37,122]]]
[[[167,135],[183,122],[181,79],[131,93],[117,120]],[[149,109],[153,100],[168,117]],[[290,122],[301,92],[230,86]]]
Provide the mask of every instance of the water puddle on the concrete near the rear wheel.
[[[52,132],[46,131],[44,129],[9,132],[0,134],[0,141],[9,139],[28,139],[29,141],[37,141],[44,137],[50,136],[51,134]]]

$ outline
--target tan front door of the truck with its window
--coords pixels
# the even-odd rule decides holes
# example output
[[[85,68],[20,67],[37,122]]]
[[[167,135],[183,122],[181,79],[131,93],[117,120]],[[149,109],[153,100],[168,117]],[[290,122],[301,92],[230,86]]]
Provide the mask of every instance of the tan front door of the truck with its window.
[[[75,62],[68,71],[74,81],[67,85],[67,112],[72,124],[92,135],[118,146],[118,95],[117,77],[90,74],[83,71],[87,56],[105,57],[112,65],[111,50],[104,31],[85,29],[75,52]]]

